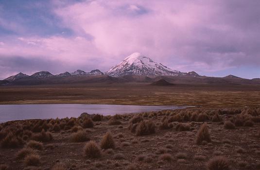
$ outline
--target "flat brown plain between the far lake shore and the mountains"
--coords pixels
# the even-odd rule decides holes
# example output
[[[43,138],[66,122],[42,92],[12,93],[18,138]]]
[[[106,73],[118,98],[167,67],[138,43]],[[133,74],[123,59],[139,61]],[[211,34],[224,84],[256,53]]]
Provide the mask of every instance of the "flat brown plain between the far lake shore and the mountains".
[[[260,85],[148,83],[0,86],[0,104],[89,103],[241,107],[260,105]]]

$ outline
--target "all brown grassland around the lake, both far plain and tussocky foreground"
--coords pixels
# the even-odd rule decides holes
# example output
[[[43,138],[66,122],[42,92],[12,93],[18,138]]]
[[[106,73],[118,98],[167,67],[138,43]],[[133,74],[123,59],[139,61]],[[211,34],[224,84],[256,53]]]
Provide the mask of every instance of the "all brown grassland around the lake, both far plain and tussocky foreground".
[[[260,170],[260,86],[1,86],[0,104],[195,108],[0,124],[0,170]]]

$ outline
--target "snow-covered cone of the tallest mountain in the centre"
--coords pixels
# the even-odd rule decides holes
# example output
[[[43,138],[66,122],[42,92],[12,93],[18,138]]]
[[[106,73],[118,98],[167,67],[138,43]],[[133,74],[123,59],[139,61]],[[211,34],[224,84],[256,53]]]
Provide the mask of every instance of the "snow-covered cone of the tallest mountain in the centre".
[[[116,77],[124,75],[177,76],[179,73],[179,71],[167,68],[161,63],[154,62],[151,58],[146,57],[139,52],[129,55],[121,63],[106,71],[106,74]]]

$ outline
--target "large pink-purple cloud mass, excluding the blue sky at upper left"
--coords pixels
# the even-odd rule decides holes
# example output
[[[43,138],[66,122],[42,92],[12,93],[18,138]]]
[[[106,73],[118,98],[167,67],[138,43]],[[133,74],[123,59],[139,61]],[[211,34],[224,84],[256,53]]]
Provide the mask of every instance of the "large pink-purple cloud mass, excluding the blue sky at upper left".
[[[135,51],[180,71],[214,72],[242,63],[260,64],[254,19],[251,23],[250,16],[244,17],[240,8],[225,0],[52,3],[53,13],[62,26],[73,30],[73,36],[11,37],[0,40],[0,54],[46,57],[65,65],[86,63],[103,71]],[[249,5],[243,9],[254,12]],[[238,26],[243,22],[252,26]]]

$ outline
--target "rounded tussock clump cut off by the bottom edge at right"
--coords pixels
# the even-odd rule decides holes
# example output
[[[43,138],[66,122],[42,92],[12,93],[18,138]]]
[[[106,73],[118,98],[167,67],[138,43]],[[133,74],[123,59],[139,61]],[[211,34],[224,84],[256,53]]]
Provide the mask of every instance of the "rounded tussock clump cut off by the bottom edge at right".
[[[207,170],[230,170],[230,168],[225,157],[216,156],[208,161]]]

